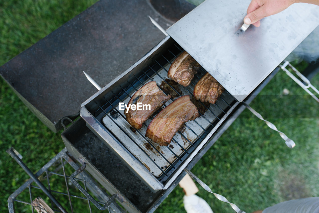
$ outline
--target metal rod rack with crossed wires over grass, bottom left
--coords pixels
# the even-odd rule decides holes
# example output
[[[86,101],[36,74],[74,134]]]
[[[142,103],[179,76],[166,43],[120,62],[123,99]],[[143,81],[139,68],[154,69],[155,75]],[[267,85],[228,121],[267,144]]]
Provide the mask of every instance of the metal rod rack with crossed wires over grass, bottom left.
[[[48,191],[56,198],[67,212],[101,212],[88,198],[73,186],[70,182],[70,174],[79,166],[71,159],[64,148],[47,164],[45,164],[35,176],[46,186]],[[102,206],[111,197],[106,190],[96,183],[95,179],[87,173],[82,172],[75,178],[86,191],[97,200]],[[33,179],[28,179],[8,198],[9,213],[14,212],[36,212],[31,205],[36,197],[41,197],[54,212],[61,212],[37,186]],[[91,205],[93,205],[91,207]],[[109,212],[125,212],[115,202],[108,207]]]

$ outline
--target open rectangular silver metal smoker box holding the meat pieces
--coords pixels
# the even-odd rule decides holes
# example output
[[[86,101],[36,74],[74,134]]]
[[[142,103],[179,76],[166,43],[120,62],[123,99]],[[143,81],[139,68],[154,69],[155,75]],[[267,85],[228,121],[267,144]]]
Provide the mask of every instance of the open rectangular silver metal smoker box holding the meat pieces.
[[[187,87],[173,84],[167,79],[167,70],[183,49],[167,36],[130,69],[93,95],[81,107],[81,117],[87,126],[104,141],[115,154],[154,192],[167,187],[185,168],[189,161],[210,139],[238,102],[225,91],[215,104],[199,102],[200,117],[185,123],[174,136],[170,146],[158,146],[145,137],[151,121],[137,130],[132,128],[120,102],[128,103],[130,97],[145,83],[155,80],[164,92],[175,94],[166,105],[182,95],[193,97],[197,81],[206,73],[201,69]]]

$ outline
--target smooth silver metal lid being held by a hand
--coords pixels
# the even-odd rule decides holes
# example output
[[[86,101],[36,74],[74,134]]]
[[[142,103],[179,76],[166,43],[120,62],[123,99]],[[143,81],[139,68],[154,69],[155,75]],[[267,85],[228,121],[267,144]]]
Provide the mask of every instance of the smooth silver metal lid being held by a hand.
[[[206,0],[167,33],[238,101],[319,24],[319,6],[293,4],[237,37],[250,0]]]

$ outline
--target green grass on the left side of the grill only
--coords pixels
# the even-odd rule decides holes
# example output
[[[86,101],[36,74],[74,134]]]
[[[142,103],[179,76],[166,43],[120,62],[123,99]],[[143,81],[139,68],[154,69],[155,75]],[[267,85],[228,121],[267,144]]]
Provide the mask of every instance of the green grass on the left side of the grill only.
[[[1,1],[0,65],[96,1]],[[42,124],[0,78],[0,212],[8,211],[9,195],[29,179],[5,150],[16,148],[35,172],[64,147],[60,133]]]

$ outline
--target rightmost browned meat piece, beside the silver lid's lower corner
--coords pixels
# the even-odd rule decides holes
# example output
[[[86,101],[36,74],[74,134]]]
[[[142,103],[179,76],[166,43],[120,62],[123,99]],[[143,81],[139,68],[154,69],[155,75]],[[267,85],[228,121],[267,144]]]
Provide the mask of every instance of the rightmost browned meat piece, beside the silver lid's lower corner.
[[[194,96],[196,100],[201,102],[215,103],[224,91],[224,87],[207,72],[197,82],[194,88]]]

